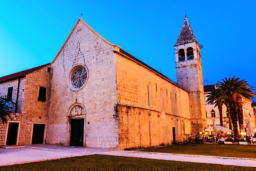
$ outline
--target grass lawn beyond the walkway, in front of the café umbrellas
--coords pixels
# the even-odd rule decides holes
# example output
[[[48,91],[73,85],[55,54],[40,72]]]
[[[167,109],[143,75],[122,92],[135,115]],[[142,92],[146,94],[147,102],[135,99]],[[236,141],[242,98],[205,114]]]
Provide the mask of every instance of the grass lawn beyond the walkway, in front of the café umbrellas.
[[[159,148],[146,148],[140,151],[204,156],[256,158],[256,146],[250,145],[180,144]]]

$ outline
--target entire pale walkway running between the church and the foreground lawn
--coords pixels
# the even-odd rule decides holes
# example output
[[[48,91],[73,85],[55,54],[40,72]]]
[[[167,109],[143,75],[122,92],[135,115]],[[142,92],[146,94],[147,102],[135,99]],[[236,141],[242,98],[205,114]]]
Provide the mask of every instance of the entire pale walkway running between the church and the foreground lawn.
[[[256,159],[249,158],[246,159],[139,151],[119,151],[94,148],[74,148],[55,145],[27,145],[25,148],[0,149],[0,165],[29,163],[93,154],[256,167]]]

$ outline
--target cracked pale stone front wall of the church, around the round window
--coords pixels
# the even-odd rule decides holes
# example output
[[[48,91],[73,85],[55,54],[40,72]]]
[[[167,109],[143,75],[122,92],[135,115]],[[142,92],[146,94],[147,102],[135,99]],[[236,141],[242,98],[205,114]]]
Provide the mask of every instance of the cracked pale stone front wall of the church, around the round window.
[[[73,104],[80,103],[86,111],[85,116],[80,116],[85,119],[83,146],[118,148],[113,50],[116,50],[115,46],[101,39],[91,27],[79,20],[52,63],[47,143],[69,145],[68,112]],[[88,81],[82,89],[75,91],[68,85],[68,76],[79,64],[87,67]]]

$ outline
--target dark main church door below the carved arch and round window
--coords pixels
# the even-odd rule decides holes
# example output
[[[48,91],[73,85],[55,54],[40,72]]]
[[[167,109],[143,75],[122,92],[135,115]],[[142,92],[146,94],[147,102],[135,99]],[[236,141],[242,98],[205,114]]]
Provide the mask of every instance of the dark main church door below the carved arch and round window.
[[[85,119],[70,119],[70,144],[69,146],[83,147]]]

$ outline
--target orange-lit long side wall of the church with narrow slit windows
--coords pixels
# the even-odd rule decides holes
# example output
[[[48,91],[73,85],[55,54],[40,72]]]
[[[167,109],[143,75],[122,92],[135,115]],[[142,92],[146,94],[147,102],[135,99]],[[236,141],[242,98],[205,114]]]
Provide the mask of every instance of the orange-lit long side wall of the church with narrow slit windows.
[[[119,149],[182,142],[190,134],[188,92],[117,55]],[[149,87],[149,89],[148,89]]]

